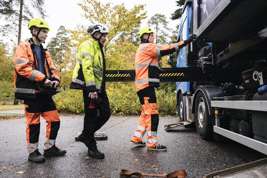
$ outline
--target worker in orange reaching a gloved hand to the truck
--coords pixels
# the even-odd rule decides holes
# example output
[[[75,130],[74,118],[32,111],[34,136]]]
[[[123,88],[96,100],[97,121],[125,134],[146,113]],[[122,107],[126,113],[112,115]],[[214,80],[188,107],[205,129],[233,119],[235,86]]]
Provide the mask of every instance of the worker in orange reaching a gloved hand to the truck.
[[[130,143],[145,146],[142,141],[147,132],[147,149],[165,151],[166,146],[158,143],[158,108],[154,87],[160,86],[159,72],[165,73],[158,68],[157,56],[165,56],[186,46],[195,39],[195,35],[185,41],[173,42],[170,45],[154,44],[155,32],[149,28],[141,28],[138,37],[141,44],[135,56],[135,88],[142,106],[141,116],[135,129],[135,135]]]

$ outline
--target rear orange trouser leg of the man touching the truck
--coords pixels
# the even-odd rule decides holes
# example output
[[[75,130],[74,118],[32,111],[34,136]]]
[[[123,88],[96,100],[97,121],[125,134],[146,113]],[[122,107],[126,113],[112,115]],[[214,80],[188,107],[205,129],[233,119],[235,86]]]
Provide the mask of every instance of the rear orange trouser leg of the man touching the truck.
[[[137,123],[137,127],[135,129],[135,135],[132,137],[131,141],[135,142],[135,143],[139,143],[140,141],[142,141],[145,132],[146,132],[146,128],[145,128],[145,113],[142,110],[142,113],[140,115],[139,121]]]

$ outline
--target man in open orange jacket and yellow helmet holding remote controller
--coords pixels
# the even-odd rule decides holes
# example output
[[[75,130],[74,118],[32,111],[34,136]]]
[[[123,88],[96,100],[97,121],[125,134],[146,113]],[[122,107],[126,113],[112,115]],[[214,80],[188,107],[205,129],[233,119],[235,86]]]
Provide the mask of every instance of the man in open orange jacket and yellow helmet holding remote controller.
[[[13,59],[14,91],[16,99],[24,100],[28,160],[45,162],[45,157],[64,155],[66,150],[55,145],[60,126],[56,105],[51,94],[37,91],[37,85],[57,88],[60,80],[50,53],[41,44],[50,31],[48,23],[42,18],[33,18],[28,29],[32,38],[18,45]],[[47,123],[43,156],[38,150],[40,115]]]

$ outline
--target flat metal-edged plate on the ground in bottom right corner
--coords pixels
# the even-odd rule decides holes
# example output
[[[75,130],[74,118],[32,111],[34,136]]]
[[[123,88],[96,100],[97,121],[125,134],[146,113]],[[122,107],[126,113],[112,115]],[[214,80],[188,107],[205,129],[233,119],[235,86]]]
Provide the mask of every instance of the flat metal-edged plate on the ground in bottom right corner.
[[[207,174],[205,178],[265,178],[267,158]]]

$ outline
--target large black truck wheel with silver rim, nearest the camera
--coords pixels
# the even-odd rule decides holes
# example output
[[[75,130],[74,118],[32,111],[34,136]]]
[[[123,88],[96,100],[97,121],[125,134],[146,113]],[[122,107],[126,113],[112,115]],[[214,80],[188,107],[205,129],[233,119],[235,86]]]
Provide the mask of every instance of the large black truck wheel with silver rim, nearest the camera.
[[[211,139],[211,116],[209,115],[209,108],[206,97],[202,92],[199,92],[196,95],[195,101],[195,122],[198,135],[202,139]]]

